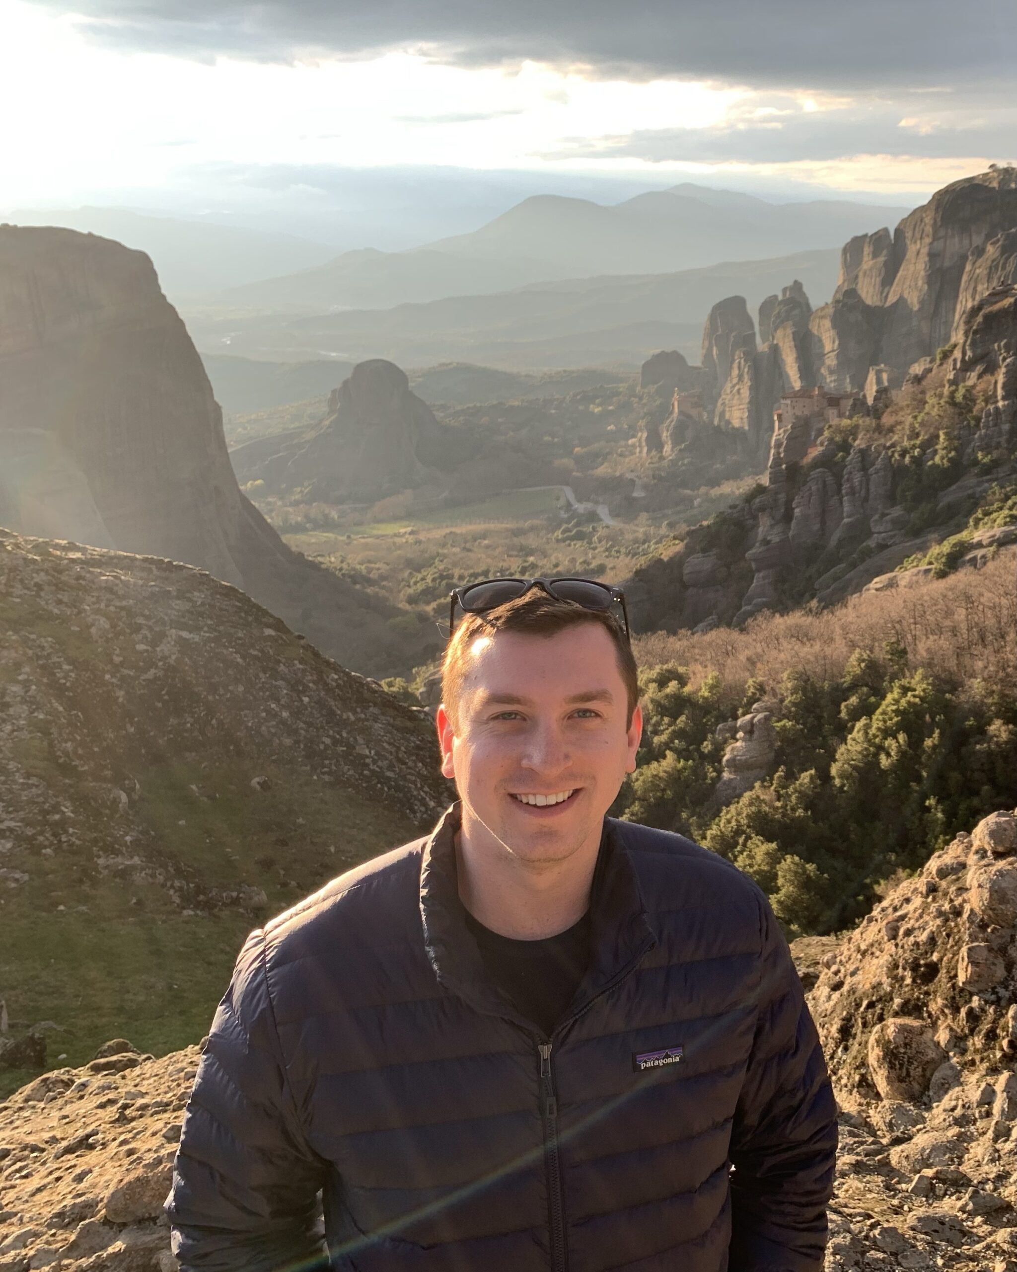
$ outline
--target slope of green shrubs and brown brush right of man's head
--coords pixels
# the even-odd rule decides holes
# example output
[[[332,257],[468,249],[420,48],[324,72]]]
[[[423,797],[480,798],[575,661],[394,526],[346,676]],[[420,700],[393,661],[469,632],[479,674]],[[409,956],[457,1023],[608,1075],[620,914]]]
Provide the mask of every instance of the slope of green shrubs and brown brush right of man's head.
[[[642,673],[641,767],[617,812],[735,862],[789,935],[856,921],[882,880],[1017,804],[1011,571],[992,562],[835,612],[643,639],[641,651],[680,644],[684,665]],[[781,702],[779,767],[718,809],[717,726],[763,696]]]

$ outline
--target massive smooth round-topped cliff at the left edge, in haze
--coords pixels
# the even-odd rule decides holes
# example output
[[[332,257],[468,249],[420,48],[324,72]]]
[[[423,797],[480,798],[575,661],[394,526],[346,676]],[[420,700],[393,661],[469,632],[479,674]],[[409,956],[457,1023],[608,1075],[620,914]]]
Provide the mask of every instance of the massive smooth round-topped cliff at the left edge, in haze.
[[[142,252],[72,230],[1,226],[0,359],[0,434],[55,439],[112,543],[243,585],[249,511],[221,413]],[[53,500],[51,515],[60,510]]]

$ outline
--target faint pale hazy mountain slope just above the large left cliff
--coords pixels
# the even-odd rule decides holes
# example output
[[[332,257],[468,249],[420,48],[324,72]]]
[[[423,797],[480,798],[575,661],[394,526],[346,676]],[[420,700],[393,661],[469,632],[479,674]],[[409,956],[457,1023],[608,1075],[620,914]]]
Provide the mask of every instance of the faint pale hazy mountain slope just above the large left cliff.
[[[60,225],[116,239],[151,257],[159,285],[174,303],[254,279],[325,262],[334,248],[292,234],[147,215],[126,207],[17,209],[14,225]]]

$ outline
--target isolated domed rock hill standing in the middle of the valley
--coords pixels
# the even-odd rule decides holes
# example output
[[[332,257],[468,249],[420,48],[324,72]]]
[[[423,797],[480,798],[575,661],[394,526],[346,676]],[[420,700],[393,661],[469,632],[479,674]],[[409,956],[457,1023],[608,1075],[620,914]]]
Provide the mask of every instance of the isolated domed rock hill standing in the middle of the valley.
[[[423,485],[450,460],[447,430],[394,363],[360,363],[310,429],[259,438],[233,452],[242,482],[270,495],[332,504],[384,499]]]

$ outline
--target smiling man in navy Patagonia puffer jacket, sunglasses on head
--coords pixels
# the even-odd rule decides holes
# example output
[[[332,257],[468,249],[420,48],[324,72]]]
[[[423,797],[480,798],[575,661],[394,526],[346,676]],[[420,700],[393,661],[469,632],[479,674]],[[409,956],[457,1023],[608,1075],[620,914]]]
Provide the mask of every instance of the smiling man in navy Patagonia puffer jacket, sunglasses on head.
[[[319,1192],[347,1272],[821,1267],[835,1108],[769,906],[605,817],[642,728],[618,600],[454,593],[460,803],[249,937],[177,1158],[183,1268],[314,1266]]]

